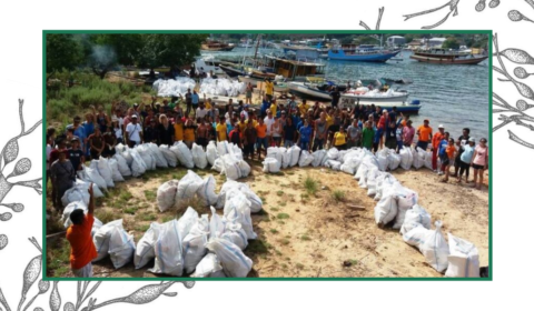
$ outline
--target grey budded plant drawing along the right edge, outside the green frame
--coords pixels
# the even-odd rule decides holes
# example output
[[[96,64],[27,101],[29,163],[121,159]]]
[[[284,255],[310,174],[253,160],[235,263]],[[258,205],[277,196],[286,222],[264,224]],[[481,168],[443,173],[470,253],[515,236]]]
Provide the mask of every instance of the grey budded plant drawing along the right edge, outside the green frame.
[[[493,57],[497,58],[498,64],[501,66],[501,67],[494,66],[493,70],[506,78],[506,79],[498,78],[498,81],[514,83],[515,88],[517,89],[517,92],[522,97],[528,100],[534,100],[534,91],[532,90],[532,88],[528,84],[516,80],[516,79],[522,79],[522,80],[526,79],[532,73],[528,73],[526,69],[523,67],[516,67],[513,71],[516,78],[514,79],[512,74],[510,74],[508,71],[506,70],[506,67],[503,61],[503,58],[505,58],[511,62],[528,66],[528,64],[534,64],[534,58],[532,58],[526,51],[520,50],[520,49],[510,48],[505,50],[500,50],[497,33],[495,33],[495,36],[493,37],[493,43],[495,46],[495,53],[493,54]],[[528,109],[534,108],[533,103],[528,103],[527,101],[521,99],[521,100],[517,100],[517,102],[515,103],[515,107],[513,107],[496,93],[493,93],[493,98],[494,98],[493,104],[500,107],[500,109],[494,109],[493,113],[510,113],[510,112],[514,113],[512,116],[501,114],[498,120],[503,122],[493,128],[494,132],[512,122],[514,122],[516,126],[524,127],[530,129],[531,131],[534,131],[534,126],[528,123],[528,122],[534,122],[534,118],[526,114],[525,112]],[[518,138],[511,130],[508,130],[508,134],[512,141],[515,141],[524,147],[534,149],[534,144],[531,144],[524,141],[523,139]]]

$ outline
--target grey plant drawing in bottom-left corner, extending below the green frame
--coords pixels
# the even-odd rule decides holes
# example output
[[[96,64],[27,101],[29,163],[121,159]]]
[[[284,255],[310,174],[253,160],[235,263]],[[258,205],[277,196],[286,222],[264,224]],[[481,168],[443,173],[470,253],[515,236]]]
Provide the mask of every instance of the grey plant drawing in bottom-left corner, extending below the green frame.
[[[42,249],[37,242],[36,238],[29,239],[30,242],[39,250],[40,254],[30,260],[28,265],[22,273],[22,293],[17,311],[26,311],[32,305],[37,297],[44,294],[50,289],[50,282],[40,280],[38,282],[39,292],[26,304],[23,305],[27,299],[27,293],[31,287],[36,283],[39,275],[41,275],[42,268]],[[52,291],[50,293],[49,307],[51,311],[59,311],[61,308],[61,293],[58,287],[59,281],[53,281]],[[68,282],[69,284],[75,284],[73,282]],[[172,284],[182,283],[186,289],[190,289],[195,285],[195,281],[180,281],[180,282],[160,282],[158,284],[148,284],[139,288],[129,295],[115,298],[111,300],[103,301],[97,304],[97,298],[95,293],[98,290],[102,282],[96,282],[91,284],[91,281],[78,281],[77,284],[77,299],[76,304],[68,301],[63,304],[65,311],[91,311],[99,308],[103,308],[113,303],[131,303],[131,304],[145,304],[155,301],[161,295],[166,297],[176,297],[177,292],[166,292]],[[82,307],[87,301],[87,305]],[[6,300],[2,289],[0,288],[0,305],[4,308],[6,311],[11,311],[8,301]],[[0,308],[1,310],[1,308]],[[33,311],[43,311],[42,308],[37,307]]]

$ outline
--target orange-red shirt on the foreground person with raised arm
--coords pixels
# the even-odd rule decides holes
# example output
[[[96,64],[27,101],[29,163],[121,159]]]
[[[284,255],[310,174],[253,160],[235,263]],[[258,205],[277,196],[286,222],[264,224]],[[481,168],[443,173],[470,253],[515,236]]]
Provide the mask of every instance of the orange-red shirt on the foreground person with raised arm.
[[[71,224],[67,229],[67,240],[70,243],[70,267],[72,269],[81,269],[97,258],[97,249],[91,237],[93,222],[95,218],[88,213],[81,224]]]

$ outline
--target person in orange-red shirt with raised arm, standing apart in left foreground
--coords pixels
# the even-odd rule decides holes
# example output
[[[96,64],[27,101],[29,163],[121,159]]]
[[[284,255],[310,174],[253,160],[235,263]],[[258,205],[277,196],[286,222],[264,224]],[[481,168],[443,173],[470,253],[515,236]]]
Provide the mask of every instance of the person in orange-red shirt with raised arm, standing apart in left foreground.
[[[89,185],[89,207],[87,215],[82,210],[70,213],[72,224],[67,229],[67,240],[70,243],[70,268],[78,278],[91,278],[91,261],[97,258],[97,249],[92,242],[91,229],[95,222],[95,200],[92,183]]]

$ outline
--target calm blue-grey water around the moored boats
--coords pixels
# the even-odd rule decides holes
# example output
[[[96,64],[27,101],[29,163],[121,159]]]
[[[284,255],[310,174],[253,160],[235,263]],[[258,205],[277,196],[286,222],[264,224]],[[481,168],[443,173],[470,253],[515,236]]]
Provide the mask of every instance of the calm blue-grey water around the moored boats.
[[[261,50],[270,52],[271,50]],[[236,48],[231,52],[214,56],[243,54],[245,49]],[[247,54],[254,53],[248,49]],[[408,90],[408,100],[421,100],[418,116],[411,116],[414,126],[431,120],[431,127],[437,131],[438,124],[456,139],[463,128],[469,128],[477,141],[488,137],[488,92],[490,76],[487,60],[477,66],[438,66],[421,63],[409,59],[411,52],[403,51],[403,61],[368,63],[352,61],[327,61],[326,77],[336,81],[352,82],[358,79],[408,78],[414,82],[397,86]]]

